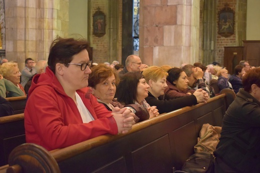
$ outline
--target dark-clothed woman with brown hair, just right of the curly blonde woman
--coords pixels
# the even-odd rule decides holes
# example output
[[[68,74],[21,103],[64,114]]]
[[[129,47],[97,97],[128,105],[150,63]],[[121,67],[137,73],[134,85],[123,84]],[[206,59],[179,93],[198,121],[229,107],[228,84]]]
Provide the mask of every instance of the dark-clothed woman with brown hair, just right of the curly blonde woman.
[[[234,74],[232,74],[229,78],[229,82],[232,85],[232,88],[234,89],[234,92],[237,93],[242,85],[242,76],[244,75],[244,69],[241,65],[236,65],[234,67]]]

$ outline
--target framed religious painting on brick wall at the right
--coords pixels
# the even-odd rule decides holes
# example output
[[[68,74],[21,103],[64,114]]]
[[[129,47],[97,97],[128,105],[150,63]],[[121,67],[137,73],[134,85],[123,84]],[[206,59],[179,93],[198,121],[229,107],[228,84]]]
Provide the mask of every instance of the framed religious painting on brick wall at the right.
[[[223,37],[231,36],[234,33],[234,11],[226,3],[218,11],[218,34]]]

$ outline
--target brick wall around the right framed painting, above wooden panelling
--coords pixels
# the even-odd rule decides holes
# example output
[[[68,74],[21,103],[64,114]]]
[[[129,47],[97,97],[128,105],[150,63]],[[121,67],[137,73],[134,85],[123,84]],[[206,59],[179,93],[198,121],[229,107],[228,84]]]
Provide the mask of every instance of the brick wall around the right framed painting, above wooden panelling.
[[[229,7],[235,11],[237,0],[218,0],[217,1],[217,11],[221,10],[225,3],[229,4]],[[218,22],[218,15],[216,21]],[[218,32],[218,24],[216,25]],[[236,45],[236,27],[234,26],[234,34],[229,37],[223,37],[219,34],[216,35],[216,58],[215,60],[219,62],[221,65],[224,64],[224,46],[237,46]]]

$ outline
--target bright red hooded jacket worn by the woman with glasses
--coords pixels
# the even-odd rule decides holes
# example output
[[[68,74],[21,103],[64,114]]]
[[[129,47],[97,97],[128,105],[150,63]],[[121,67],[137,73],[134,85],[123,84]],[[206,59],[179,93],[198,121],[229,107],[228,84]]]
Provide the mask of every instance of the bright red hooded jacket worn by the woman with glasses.
[[[88,88],[77,90],[95,120],[83,123],[76,104],[66,95],[53,72],[36,74],[24,110],[26,142],[48,150],[66,147],[102,134],[117,134],[117,125]]]

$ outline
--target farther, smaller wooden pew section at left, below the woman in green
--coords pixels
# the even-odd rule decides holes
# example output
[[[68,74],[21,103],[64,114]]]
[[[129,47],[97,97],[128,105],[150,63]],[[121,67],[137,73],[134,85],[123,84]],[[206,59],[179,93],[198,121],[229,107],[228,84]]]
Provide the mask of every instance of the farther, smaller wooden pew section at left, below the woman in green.
[[[25,96],[6,97],[5,99],[7,101],[10,101],[14,114],[24,112],[25,104],[26,104],[26,95]]]

